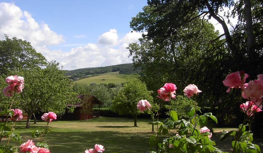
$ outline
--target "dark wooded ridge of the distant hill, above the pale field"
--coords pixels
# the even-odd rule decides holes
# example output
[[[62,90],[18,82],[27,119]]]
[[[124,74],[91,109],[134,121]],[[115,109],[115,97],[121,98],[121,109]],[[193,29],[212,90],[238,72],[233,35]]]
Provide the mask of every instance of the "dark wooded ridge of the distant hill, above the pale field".
[[[118,72],[119,74],[134,74],[141,73],[140,69],[134,70],[133,63],[111,65],[97,68],[82,68],[77,70],[65,70],[65,75],[70,79],[94,77],[99,74],[105,74],[109,72]]]

